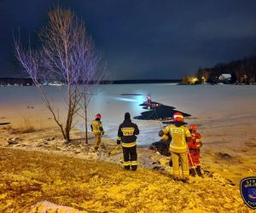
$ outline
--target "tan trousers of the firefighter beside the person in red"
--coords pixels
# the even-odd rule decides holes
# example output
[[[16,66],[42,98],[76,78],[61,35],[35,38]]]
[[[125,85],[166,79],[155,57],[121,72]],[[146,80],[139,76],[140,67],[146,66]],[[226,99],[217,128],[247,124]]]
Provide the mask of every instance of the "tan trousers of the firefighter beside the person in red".
[[[174,177],[189,177],[189,160],[188,153],[172,153],[172,174]],[[179,170],[179,162],[182,167],[182,174]]]

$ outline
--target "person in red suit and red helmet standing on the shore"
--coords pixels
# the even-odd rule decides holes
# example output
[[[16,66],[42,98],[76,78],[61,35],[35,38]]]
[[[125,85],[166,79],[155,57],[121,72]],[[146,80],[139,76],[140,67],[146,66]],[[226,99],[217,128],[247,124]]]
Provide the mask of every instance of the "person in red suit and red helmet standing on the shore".
[[[189,174],[191,176],[202,176],[200,164],[200,148],[202,146],[201,135],[196,131],[197,125],[190,124],[189,131],[191,140],[188,142],[189,147]]]

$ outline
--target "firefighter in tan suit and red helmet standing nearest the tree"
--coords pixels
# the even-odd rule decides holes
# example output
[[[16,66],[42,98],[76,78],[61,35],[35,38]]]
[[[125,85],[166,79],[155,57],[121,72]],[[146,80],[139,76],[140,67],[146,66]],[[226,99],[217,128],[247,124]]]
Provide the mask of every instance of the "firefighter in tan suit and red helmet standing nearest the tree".
[[[93,120],[90,124],[90,129],[93,132],[93,135],[95,135],[95,146],[94,146],[95,151],[98,150],[102,140],[102,135],[104,135],[101,118],[102,118],[102,115],[100,113],[97,113],[95,120]]]

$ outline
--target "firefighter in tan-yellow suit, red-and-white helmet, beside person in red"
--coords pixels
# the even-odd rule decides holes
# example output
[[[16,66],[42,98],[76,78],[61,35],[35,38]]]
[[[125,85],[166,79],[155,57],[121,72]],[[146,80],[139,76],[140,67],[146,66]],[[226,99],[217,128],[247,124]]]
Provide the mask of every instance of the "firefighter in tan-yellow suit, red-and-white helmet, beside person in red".
[[[173,114],[174,124],[166,126],[164,130],[160,130],[159,135],[170,135],[172,141],[170,143],[170,152],[172,157],[172,173],[175,181],[189,181],[189,160],[188,146],[191,135],[189,129],[185,127],[183,114],[176,112]],[[182,176],[179,171],[179,162],[182,166]]]

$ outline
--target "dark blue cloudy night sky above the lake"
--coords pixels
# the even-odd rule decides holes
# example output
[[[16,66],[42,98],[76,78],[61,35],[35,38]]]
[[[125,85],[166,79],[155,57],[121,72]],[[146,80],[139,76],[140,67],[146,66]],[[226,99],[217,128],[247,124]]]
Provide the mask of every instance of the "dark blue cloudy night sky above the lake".
[[[37,32],[54,5],[79,15],[111,79],[182,78],[256,55],[255,0],[0,0],[0,77],[20,77],[12,32]]]

